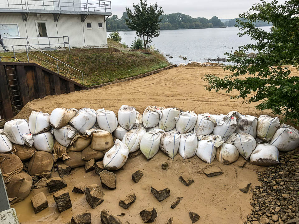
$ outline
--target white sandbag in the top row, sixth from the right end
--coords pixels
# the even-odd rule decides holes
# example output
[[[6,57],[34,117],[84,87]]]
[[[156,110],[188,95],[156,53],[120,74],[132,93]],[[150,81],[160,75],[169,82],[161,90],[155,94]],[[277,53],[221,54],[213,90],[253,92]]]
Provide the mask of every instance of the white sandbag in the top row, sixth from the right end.
[[[194,111],[181,112],[175,120],[175,128],[178,132],[186,134],[194,128],[197,121],[197,114],[195,114]]]

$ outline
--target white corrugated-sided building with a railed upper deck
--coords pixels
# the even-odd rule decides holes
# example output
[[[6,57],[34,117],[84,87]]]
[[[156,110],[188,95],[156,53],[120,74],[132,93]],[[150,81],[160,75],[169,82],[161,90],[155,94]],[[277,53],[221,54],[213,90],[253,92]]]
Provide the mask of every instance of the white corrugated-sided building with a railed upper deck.
[[[107,47],[111,15],[106,0],[0,0],[0,33],[9,50]]]

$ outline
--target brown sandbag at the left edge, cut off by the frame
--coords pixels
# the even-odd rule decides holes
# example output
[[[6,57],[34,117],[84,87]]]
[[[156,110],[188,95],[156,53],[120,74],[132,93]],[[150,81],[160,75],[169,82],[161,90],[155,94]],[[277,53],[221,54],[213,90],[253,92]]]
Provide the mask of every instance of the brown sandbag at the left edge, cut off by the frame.
[[[23,163],[15,154],[0,153],[0,169],[3,175],[4,183],[8,183],[13,175],[23,170]]]

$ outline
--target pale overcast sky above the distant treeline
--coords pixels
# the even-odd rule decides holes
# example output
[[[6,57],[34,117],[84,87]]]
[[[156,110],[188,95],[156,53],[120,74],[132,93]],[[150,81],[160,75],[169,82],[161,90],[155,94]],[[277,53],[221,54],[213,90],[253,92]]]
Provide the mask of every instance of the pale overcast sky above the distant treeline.
[[[131,8],[137,2],[139,0],[111,0],[112,14],[120,18],[126,7]],[[181,12],[194,18],[200,16],[210,19],[217,16],[219,19],[233,19],[259,0],[148,0],[148,3],[155,2],[164,9],[165,14]],[[283,3],[285,0],[278,2]]]

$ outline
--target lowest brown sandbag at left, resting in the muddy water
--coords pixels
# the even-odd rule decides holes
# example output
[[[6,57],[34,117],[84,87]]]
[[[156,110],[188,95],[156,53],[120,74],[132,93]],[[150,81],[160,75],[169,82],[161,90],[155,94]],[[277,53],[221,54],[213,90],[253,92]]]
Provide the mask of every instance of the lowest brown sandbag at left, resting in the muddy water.
[[[9,203],[13,204],[24,200],[30,193],[32,178],[30,175],[21,171],[13,175],[9,183],[6,184],[6,192]]]

